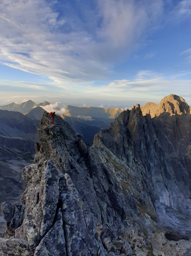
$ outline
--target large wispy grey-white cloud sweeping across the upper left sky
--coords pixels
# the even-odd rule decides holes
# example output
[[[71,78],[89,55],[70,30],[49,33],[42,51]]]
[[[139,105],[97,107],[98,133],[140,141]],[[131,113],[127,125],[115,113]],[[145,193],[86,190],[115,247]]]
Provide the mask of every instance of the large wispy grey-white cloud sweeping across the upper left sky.
[[[134,0],[100,0],[83,22],[71,5],[65,12],[69,2],[54,11],[56,3],[2,0],[0,52],[4,65],[46,75],[63,88],[66,81],[108,76],[111,63],[137,49],[163,12],[162,0],[139,5]],[[84,13],[85,4],[82,1]]]

